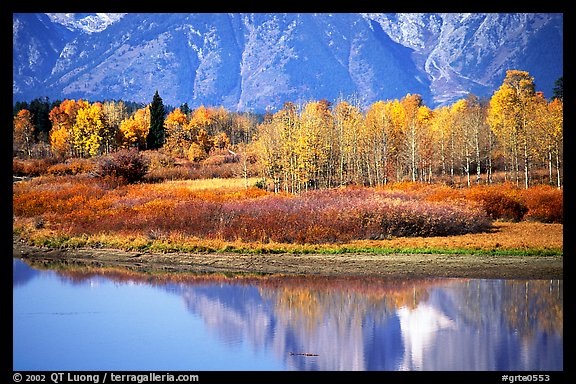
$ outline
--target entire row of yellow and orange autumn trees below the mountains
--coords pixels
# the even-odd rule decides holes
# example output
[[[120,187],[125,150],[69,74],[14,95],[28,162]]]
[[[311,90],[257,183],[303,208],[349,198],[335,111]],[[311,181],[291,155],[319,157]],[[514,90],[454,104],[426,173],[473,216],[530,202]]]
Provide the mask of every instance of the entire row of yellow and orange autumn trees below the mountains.
[[[469,94],[436,109],[418,94],[366,108],[323,99],[286,102],[258,121],[223,107],[183,104],[166,114],[163,131],[155,132],[163,140],[152,140],[154,148],[151,105],[129,113],[122,101],[64,100],[51,109],[44,139],[34,133],[33,114],[15,110],[14,153],[33,157],[42,140],[59,159],[136,148],[201,162],[229,150],[258,163],[264,185],[290,193],[401,181],[562,186],[562,98],[547,100],[519,70],[507,71],[489,99]]]

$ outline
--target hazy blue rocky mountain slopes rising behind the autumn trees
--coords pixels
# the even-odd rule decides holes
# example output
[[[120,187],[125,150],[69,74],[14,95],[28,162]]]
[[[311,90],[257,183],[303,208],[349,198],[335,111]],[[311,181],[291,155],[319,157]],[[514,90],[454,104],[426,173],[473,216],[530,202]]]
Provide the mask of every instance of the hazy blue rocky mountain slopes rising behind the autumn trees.
[[[13,101],[276,110],[339,98],[489,97],[506,70],[552,95],[562,13],[14,13]]]

